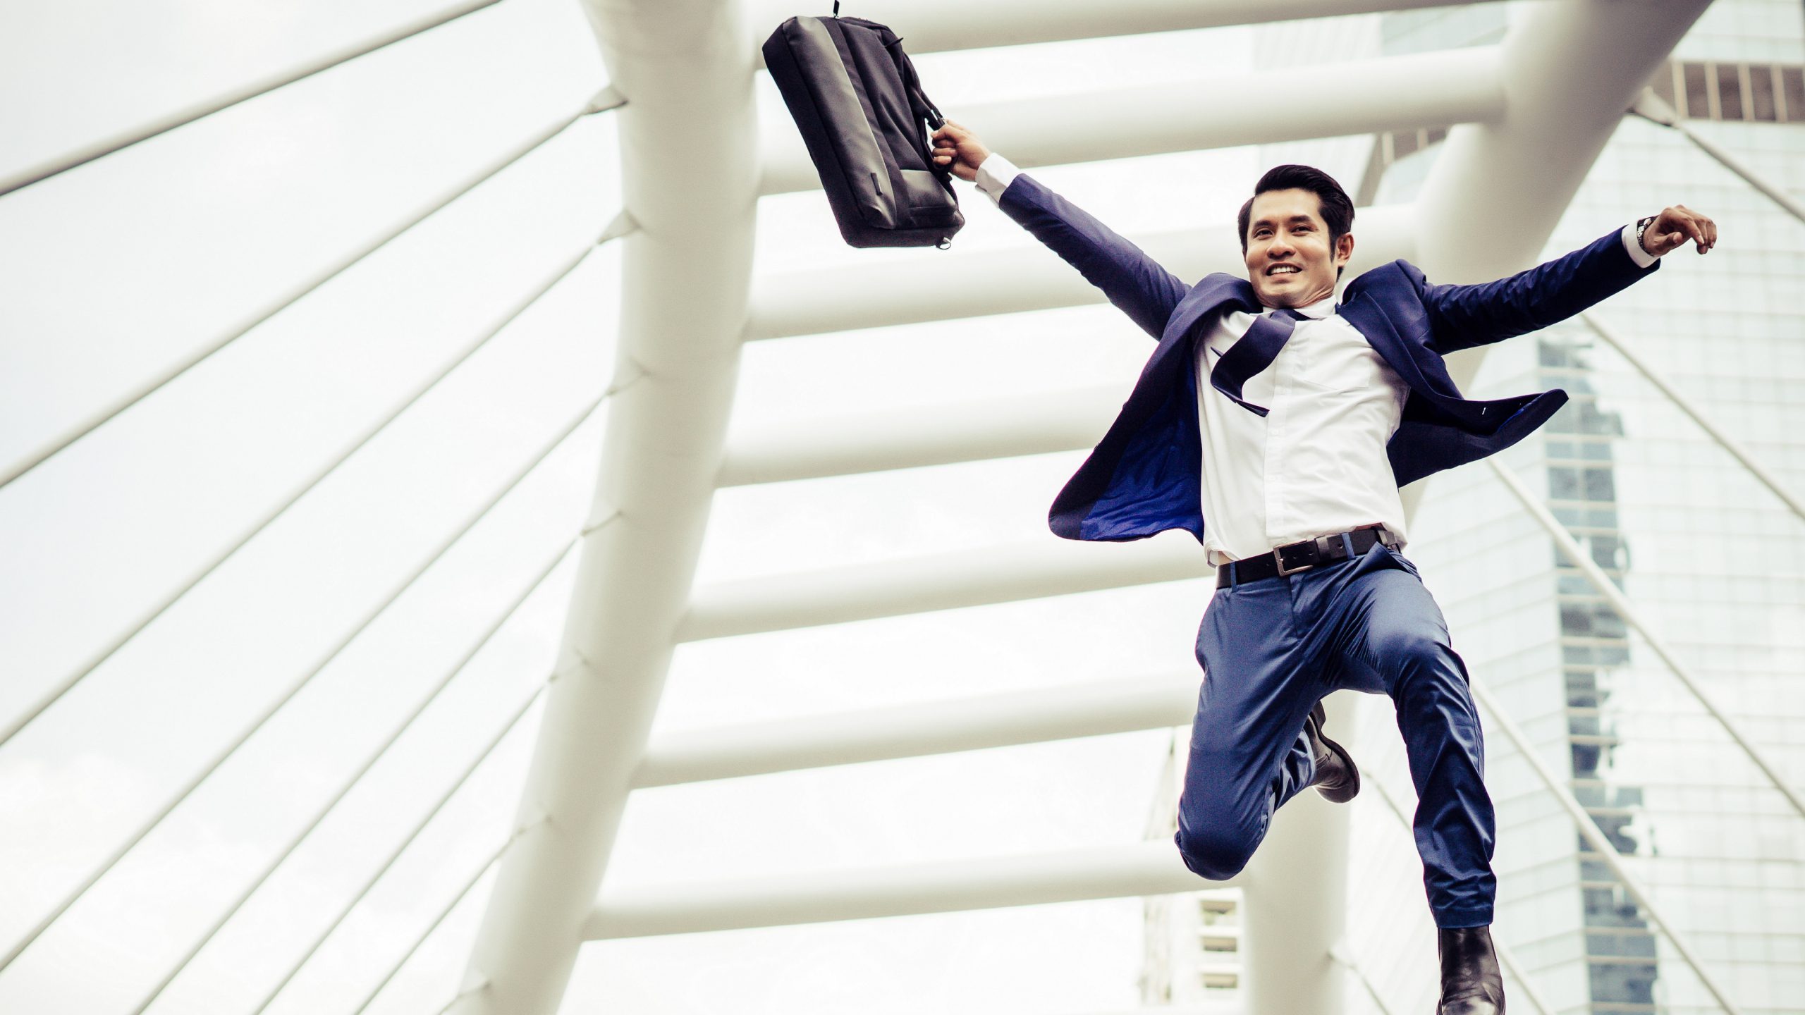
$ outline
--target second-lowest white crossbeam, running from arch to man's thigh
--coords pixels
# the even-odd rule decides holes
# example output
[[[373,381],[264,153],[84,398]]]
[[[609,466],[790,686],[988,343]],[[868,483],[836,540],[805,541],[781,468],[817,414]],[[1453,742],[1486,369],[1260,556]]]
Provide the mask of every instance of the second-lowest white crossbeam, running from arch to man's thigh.
[[[634,787],[944,755],[1182,726],[1199,674],[1110,679],[958,701],[666,733]]]

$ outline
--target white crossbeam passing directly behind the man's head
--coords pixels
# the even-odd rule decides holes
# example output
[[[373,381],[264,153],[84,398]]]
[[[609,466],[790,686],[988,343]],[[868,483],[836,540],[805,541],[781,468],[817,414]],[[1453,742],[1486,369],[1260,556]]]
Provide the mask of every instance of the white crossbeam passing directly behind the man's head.
[[[1253,190],[1253,181],[1247,188]],[[1415,255],[1415,217],[1408,206],[1359,210],[1354,235],[1348,276]],[[1144,233],[1130,240],[1184,280],[1213,271],[1247,275],[1233,222]],[[933,298],[926,300],[922,293],[931,293]],[[789,338],[1101,302],[1103,293],[1038,244],[969,255],[930,251],[870,267],[760,276],[753,289],[745,338]]]

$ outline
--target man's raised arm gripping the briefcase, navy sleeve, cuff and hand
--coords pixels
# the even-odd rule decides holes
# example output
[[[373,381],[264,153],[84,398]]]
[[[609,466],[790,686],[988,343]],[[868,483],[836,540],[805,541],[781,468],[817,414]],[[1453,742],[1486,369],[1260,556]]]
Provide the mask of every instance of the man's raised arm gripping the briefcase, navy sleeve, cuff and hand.
[[[977,182],[1004,215],[1065,258],[1143,331],[1153,338],[1166,331],[1166,320],[1189,285],[1076,204],[1022,175],[964,126],[946,121],[933,134],[933,144],[935,163]]]

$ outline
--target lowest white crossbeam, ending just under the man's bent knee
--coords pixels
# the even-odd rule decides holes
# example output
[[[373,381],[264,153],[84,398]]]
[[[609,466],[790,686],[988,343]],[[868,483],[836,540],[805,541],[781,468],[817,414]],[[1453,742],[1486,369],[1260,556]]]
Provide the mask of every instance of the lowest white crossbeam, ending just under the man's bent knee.
[[[583,925],[590,941],[791,927],[879,916],[967,912],[1244,887],[1204,881],[1170,842],[915,863],[875,871],[810,871],[751,881],[702,881],[605,892]]]

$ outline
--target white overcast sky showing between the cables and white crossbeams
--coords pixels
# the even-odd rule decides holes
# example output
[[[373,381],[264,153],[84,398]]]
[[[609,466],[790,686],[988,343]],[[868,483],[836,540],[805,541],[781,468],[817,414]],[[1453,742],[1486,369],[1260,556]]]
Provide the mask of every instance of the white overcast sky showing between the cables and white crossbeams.
[[[435,7],[0,5],[0,173]],[[1242,31],[1173,33],[919,65],[960,117],[975,99],[1233,70],[1245,49]],[[574,0],[504,0],[0,199],[0,462],[572,112],[605,83],[596,52]],[[1256,164],[1233,150],[1041,175],[1134,231],[1227,219]],[[581,249],[619,210],[614,181],[608,119],[570,128],[0,489],[0,715],[81,668]],[[966,195],[971,222],[955,249],[1025,242]],[[937,256],[847,249],[819,193],[767,199],[762,219],[760,273]],[[0,946],[319,668],[606,386],[616,269],[617,251],[592,255],[0,748]],[[747,350],[735,424],[1099,381],[1126,390],[1144,352],[1108,307],[764,343]],[[0,1011],[130,1011],[554,560],[587,506],[601,437],[597,415],[0,973]],[[726,491],[699,580],[1051,540],[1045,506],[1076,462]],[[155,1011],[247,1011],[274,984],[543,677],[569,580],[565,562]],[[1188,674],[1206,594],[1177,583],[691,645],[659,728]],[[505,833],[531,731],[532,717],[273,1011],[348,1010],[374,986]],[[1166,744],[1150,731],[648,791],[628,807],[608,878],[652,885],[1134,842]],[[484,892],[374,1010],[431,1011],[451,995]],[[1135,1001],[1139,925],[1139,901],[1125,899],[590,945],[565,1010],[1123,1010]]]

